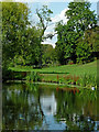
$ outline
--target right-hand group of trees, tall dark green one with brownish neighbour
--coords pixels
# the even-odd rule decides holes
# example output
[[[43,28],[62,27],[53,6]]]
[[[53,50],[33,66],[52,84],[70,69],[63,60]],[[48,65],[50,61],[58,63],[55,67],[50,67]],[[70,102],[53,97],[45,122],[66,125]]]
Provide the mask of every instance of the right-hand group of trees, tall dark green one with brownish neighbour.
[[[67,24],[58,22],[56,51],[61,64],[86,63],[91,61],[98,46],[99,28],[94,11],[90,11],[90,2],[70,2],[65,15]],[[95,53],[94,53],[95,52]]]

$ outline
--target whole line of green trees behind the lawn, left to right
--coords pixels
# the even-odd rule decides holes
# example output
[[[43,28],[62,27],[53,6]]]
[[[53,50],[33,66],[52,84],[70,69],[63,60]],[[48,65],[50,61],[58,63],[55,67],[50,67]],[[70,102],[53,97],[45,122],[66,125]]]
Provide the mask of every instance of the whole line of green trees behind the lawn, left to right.
[[[44,35],[52,22],[47,6],[36,9],[40,22],[32,25],[28,4],[2,2],[2,72],[3,77],[11,66],[50,66],[94,61],[98,53],[99,26],[89,2],[70,2],[65,15],[67,24],[56,24],[57,42],[43,45],[53,34]]]

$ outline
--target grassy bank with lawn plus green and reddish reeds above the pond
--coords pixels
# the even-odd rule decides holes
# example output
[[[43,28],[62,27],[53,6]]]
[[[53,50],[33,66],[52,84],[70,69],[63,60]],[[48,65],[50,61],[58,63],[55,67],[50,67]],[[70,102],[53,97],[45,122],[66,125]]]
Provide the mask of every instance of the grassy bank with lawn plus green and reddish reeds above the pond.
[[[41,81],[97,87],[97,61],[84,65],[64,65],[33,69],[32,67],[10,67],[13,72],[40,73]],[[26,77],[28,78],[28,77]],[[29,80],[33,80],[33,76]]]

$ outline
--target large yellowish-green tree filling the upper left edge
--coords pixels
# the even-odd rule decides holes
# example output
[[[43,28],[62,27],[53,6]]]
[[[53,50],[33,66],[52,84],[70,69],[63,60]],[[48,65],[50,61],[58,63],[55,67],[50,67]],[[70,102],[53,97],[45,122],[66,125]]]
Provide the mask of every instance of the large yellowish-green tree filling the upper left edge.
[[[24,33],[29,22],[29,8],[21,2],[1,2],[2,4],[2,68],[8,69],[9,63],[24,47]]]

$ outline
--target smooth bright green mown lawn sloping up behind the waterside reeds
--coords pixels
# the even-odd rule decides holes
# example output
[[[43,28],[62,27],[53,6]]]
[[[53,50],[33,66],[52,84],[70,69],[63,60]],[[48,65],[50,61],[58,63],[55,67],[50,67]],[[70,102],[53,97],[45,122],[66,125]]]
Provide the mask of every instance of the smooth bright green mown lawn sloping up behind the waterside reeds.
[[[97,62],[98,61],[95,61],[92,63],[88,63],[84,65],[74,64],[74,65],[46,67],[42,69],[33,69],[32,67],[28,67],[28,66],[10,67],[9,69],[13,72],[38,72],[40,74],[46,74],[45,76],[47,76],[47,74],[50,76],[52,75],[55,76],[55,74],[59,74],[59,75],[69,74],[69,75],[78,75],[78,76],[84,74],[97,75]]]

